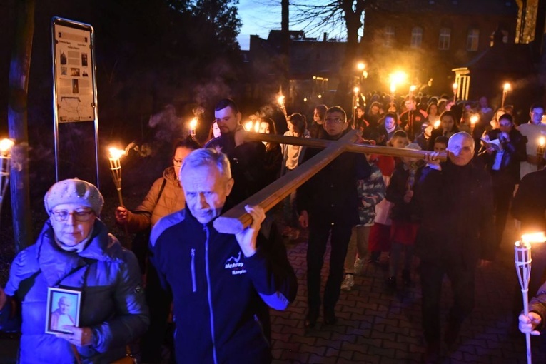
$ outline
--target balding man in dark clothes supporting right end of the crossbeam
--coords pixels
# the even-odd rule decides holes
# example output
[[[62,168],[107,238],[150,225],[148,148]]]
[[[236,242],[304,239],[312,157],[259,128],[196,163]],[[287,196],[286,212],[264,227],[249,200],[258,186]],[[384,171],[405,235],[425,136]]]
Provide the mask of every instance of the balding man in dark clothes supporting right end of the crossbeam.
[[[454,296],[444,340],[453,346],[474,307],[475,268],[495,256],[491,178],[472,164],[473,156],[472,136],[455,133],[448,142],[448,161],[439,163],[438,153],[430,153],[415,189],[421,218],[415,250],[421,259],[425,363],[435,363],[440,354],[444,275],[451,280]]]

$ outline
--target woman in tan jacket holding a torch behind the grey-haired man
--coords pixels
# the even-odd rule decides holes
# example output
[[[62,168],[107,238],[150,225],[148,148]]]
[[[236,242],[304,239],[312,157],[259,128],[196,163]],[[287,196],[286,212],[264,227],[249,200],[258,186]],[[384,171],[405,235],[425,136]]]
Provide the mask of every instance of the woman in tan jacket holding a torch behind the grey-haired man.
[[[184,208],[186,198],[178,181],[178,173],[184,158],[198,148],[201,146],[191,137],[176,142],[173,147],[173,164],[163,171],[163,177],[153,182],[140,206],[133,211],[128,211],[123,206],[116,209],[116,223],[126,225],[129,233],[137,233],[132,248],[138,258],[141,272],[146,275],[146,300],[150,306],[151,324],[141,341],[142,361],[145,363],[161,361],[161,345],[166,341],[167,318],[171,313],[172,301],[172,298],[161,289],[153,266],[146,264],[150,231],[160,218]]]

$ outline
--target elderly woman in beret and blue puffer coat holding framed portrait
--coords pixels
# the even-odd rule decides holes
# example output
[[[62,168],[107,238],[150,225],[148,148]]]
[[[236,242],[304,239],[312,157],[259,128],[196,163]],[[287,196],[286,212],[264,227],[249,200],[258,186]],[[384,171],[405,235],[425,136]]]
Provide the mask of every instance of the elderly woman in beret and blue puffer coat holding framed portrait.
[[[148,327],[138,263],[98,218],[103,197],[66,179],[44,198],[49,220],[0,288],[0,329],[22,332],[19,363],[111,363]],[[79,325],[46,333],[48,288],[81,293]]]

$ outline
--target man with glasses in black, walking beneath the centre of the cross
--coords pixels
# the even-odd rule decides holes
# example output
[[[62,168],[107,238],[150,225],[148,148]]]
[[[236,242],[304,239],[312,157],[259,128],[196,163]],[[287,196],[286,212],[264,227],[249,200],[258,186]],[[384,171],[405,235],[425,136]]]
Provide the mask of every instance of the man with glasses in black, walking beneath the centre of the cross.
[[[324,117],[325,139],[338,140],[347,131],[347,116],[343,108],[329,108]],[[308,148],[303,156],[307,161],[319,149]],[[333,324],[335,304],[338,302],[343,280],[343,263],[347,254],[350,233],[358,223],[357,180],[370,176],[370,166],[363,154],[343,153],[298,189],[296,202],[300,224],[309,227],[307,249],[307,288],[309,310],[305,326],[313,327],[320,310],[320,270],[328,236],[330,238],[330,273],[324,291],[324,321]]]

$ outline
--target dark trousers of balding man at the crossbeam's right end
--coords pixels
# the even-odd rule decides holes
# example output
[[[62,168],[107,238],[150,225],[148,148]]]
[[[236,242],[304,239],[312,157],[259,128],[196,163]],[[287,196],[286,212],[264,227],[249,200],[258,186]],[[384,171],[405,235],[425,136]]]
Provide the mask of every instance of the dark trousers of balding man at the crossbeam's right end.
[[[448,319],[460,324],[474,308],[475,269],[475,264],[462,266],[448,261],[421,261],[423,333],[429,345],[440,341],[440,298],[444,275],[448,275],[453,290],[454,302]]]

